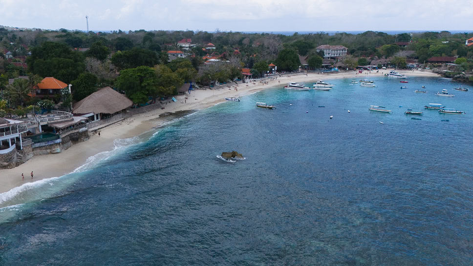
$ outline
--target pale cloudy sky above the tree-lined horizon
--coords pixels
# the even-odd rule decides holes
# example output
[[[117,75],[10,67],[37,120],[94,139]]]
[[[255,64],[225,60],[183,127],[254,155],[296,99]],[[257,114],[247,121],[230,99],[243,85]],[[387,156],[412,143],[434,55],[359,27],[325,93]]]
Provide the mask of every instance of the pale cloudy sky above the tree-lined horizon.
[[[0,0],[0,25],[83,30],[473,31],[473,0]]]

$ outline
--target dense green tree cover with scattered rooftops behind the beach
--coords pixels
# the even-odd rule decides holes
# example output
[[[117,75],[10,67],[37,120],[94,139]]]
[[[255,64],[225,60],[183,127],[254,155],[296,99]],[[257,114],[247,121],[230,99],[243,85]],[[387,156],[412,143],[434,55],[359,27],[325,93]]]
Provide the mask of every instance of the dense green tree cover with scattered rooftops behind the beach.
[[[253,77],[261,77],[274,63],[278,71],[297,71],[300,58],[308,69],[323,64],[322,44],[343,45],[347,56],[329,63],[341,62],[353,69],[357,65],[381,59],[407,66],[408,61],[425,65],[431,57],[456,57],[460,67],[455,71],[469,75],[473,69],[473,45],[465,41],[469,33],[447,31],[388,35],[366,31],[361,34],[327,33],[291,36],[268,33],[129,31],[111,33],[80,32],[61,29],[6,30],[0,28],[0,116],[1,108],[38,104],[39,99],[27,93],[44,77],[54,77],[72,84],[72,95],[64,92],[48,104],[80,101],[98,88],[111,86],[125,93],[133,102],[143,103],[156,97],[170,96],[184,82],[210,86],[216,82],[242,79],[242,68]],[[180,40],[192,40],[188,50]],[[214,45],[209,49],[209,45]],[[185,57],[174,58],[168,51],[182,51]],[[409,53],[403,53],[408,51]],[[207,61],[213,59],[213,61]],[[207,63],[206,63],[207,61]],[[17,79],[9,84],[8,79]],[[44,102],[42,103],[44,104]],[[6,106],[6,107],[5,107]]]

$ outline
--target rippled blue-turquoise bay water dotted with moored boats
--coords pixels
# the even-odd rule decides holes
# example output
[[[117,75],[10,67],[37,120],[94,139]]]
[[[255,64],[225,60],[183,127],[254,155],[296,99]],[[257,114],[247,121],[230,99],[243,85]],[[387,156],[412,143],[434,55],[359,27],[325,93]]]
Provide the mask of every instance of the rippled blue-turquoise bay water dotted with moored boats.
[[[472,265],[473,90],[374,80],[281,84],[0,194],[0,265]]]

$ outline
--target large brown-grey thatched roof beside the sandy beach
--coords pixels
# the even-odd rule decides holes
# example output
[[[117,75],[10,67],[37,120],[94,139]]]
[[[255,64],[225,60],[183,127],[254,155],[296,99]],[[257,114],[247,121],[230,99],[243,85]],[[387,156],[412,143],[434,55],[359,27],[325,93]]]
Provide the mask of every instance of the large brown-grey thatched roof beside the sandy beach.
[[[114,114],[133,105],[125,95],[110,87],[101,88],[74,104],[74,114]]]

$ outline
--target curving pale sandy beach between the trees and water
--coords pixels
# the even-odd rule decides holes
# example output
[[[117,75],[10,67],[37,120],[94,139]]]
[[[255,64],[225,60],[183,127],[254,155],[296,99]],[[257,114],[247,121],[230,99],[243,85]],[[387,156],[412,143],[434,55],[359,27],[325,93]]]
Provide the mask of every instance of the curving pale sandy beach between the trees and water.
[[[165,104],[165,109],[156,109],[150,112],[142,113],[131,118],[122,120],[118,123],[111,124],[100,130],[100,136],[97,134],[90,135],[89,139],[82,143],[74,144],[72,147],[62,151],[59,154],[48,154],[35,156],[24,164],[12,169],[0,170],[0,196],[2,193],[8,192],[15,187],[23,184],[37,182],[39,180],[60,177],[68,174],[81,165],[84,165],[87,159],[98,153],[110,151],[114,149],[114,141],[116,139],[127,139],[139,136],[145,132],[152,130],[163,123],[167,122],[165,118],[160,118],[163,113],[174,113],[178,111],[202,110],[217,103],[224,102],[225,97],[242,97],[257,91],[272,88],[280,85],[281,87],[288,82],[312,82],[317,80],[332,79],[363,79],[370,77],[382,77],[389,70],[380,70],[379,73],[371,72],[370,74],[358,74],[354,71],[341,72],[335,74],[294,74],[278,77],[277,80],[269,81],[268,84],[262,82],[240,83],[235,90],[233,85],[228,88],[227,85],[216,87],[213,90],[193,90],[190,95],[179,95],[175,98],[177,102]],[[409,77],[425,76],[440,77],[432,72],[400,70]],[[185,99],[187,97],[188,99]],[[31,179],[30,172],[34,171],[34,178]],[[21,180],[21,173],[25,179]]]

